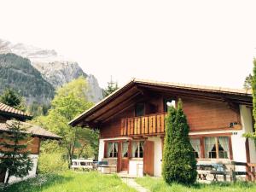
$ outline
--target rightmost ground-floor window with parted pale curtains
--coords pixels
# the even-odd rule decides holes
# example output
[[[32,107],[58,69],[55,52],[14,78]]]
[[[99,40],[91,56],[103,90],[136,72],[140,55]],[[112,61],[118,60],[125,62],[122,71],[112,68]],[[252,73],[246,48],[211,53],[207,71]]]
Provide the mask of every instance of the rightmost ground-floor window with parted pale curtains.
[[[205,137],[205,156],[210,159],[229,159],[229,137]]]

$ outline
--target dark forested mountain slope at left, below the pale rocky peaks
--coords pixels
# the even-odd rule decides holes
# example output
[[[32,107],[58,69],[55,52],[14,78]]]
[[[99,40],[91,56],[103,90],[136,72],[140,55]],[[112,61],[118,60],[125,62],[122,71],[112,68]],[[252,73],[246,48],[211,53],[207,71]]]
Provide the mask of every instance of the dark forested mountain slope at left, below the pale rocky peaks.
[[[0,54],[0,93],[8,87],[26,97],[28,104],[49,103],[55,95],[55,88],[28,59],[10,53]]]

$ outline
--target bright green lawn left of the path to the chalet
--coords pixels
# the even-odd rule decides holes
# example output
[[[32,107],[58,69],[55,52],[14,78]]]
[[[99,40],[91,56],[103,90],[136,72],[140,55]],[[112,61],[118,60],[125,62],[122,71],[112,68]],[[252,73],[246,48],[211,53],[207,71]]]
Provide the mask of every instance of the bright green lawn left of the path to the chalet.
[[[98,172],[62,172],[59,174],[41,175],[14,183],[1,192],[98,192],[118,191],[135,192],[122,183],[116,175],[102,175]]]

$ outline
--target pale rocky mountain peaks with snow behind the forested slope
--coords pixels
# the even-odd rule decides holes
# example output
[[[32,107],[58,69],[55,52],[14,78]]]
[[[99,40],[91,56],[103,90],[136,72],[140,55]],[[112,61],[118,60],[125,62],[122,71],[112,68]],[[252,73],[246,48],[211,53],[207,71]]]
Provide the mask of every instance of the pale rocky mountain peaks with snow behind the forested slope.
[[[14,53],[28,58],[32,66],[55,88],[82,75],[87,79],[90,86],[88,99],[91,102],[99,102],[103,98],[102,88],[99,86],[97,79],[91,74],[84,73],[76,61],[58,55],[54,49],[41,49],[26,44],[12,44],[0,39],[1,53]]]

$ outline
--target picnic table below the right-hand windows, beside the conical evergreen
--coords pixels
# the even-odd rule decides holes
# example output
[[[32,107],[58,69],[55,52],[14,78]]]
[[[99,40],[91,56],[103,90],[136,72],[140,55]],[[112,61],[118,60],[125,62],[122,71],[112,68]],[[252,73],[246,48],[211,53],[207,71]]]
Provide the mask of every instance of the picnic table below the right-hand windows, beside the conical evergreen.
[[[197,163],[198,178],[201,180],[207,180],[207,175],[213,175],[213,181],[218,181],[218,175],[224,176],[226,181],[227,172],[223,164],[218,163]]]

